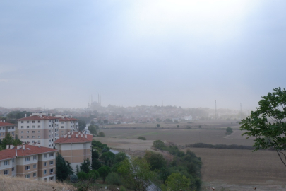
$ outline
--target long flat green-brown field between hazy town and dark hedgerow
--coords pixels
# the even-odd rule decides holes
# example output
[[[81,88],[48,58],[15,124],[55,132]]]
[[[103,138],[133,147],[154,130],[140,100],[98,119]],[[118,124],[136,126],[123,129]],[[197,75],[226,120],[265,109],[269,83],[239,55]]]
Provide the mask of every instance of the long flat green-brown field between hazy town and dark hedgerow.
[[[106,137],[120,139],[137,139],[139,136],[147,140],[171,141],[175,144],[186,145],[195,143],[206,144],[239,144],[253,145],[253,139],[242,137],[240,130],[234,130],[231,135],[225,135],[225,129],[100,129]]]

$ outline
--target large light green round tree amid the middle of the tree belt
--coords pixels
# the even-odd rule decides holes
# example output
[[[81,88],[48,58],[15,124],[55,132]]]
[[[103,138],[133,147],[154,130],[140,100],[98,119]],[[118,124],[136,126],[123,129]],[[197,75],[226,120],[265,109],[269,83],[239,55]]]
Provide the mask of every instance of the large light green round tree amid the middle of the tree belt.
[[[150,164],[144,158],[131,158],[122,161],[117,170],[125,185],[135,191],[145,191],[152,184],[155,174],[150,170]]]

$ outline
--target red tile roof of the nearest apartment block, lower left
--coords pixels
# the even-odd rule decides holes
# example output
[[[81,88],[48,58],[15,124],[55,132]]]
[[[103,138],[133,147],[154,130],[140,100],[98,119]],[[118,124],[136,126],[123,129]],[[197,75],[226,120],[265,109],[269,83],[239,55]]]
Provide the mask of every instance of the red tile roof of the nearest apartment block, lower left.
[[[0,151],[0,161],[8,159],[8,158],[15,158],[16,156],[30,156],[34,154],[44,154],[52,151],[58,151],[57,149],[51,149],[44,146],[33,146],[33,145],[25,145],[25,150],[23,149],[17,149],[17,146],[15,146],[13,149],[5,149]]]

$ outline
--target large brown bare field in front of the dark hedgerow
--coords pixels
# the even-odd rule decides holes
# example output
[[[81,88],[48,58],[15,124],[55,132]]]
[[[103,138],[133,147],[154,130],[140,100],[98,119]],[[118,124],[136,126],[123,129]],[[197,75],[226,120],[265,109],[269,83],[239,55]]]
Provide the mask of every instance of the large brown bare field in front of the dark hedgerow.
[[[251,190],[253,186],[258,190],[286,190],[285,167],[275,151],[190,150],[202,158],[206,185],[230,190]]]

